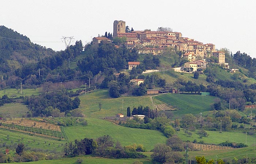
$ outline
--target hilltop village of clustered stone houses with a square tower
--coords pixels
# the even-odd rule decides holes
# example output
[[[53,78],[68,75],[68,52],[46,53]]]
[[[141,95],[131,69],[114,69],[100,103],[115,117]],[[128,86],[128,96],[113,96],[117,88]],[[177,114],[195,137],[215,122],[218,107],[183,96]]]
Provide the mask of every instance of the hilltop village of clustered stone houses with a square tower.
[[[162,53],[170,48],[176,51],[182,51],[183,58],[188,62],[184,63],[183,67],[174,69],[175,71],[195,72],[206,69],[206,58],[214,56],[215,61],[223,68],[229,69],[229,63],[225,62],[225,52],[220,52],[215,49],[215,45],[211,43],[203,44],[191,38],[182,37],[181,32],[172,32],[161,30],[159,31],[126,31],[125,21],[114,21],[113,38],[125,38],[127,48],[137,48],[139,54],[162,55]],[[93,44],[98,44],[101,41],[111,42],[111,39],[106,37],[94,37]],[[116,45],[116,48],[119,46]],[[231,70],[233,71],[233,70]]]

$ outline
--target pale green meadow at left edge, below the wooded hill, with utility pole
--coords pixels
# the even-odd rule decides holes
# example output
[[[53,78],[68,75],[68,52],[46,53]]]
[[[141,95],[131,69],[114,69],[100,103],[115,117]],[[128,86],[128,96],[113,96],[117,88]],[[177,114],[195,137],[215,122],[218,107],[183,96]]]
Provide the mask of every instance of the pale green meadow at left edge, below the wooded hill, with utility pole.
[[[41,88],[37,89],[22,89],[22,94],[20,94],[20,88],[10,88],[5,90],[0,90],[0,97],[3,95],[8,95],[8,97],[20,97],[20,96],[29,96],[32,94],[39,94],[41,92]]]

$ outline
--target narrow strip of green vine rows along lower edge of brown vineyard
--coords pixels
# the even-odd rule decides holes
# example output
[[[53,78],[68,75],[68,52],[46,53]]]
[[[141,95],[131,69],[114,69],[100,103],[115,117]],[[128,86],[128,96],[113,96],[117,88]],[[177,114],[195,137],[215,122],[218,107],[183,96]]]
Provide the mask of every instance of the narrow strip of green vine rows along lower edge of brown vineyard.
[[[50,138],[63,138],[63,134],[56,130],[39,129],[39,128],[32,128],[28,126],[10,125],[10,124],[4,124],[4,123],[0,123],[0,128],[10,129],[14,131],[23,132],[23,133],[35,134],[35,135],[45,136]]]

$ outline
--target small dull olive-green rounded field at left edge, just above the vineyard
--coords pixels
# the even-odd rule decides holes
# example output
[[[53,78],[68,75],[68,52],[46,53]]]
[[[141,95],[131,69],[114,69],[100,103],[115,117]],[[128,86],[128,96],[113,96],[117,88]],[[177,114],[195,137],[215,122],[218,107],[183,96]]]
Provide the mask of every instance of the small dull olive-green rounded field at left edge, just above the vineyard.
[[[21,118],[29,111],[26,105],[21,103],[10,103],[0,106],[0,116],[3,118]]]

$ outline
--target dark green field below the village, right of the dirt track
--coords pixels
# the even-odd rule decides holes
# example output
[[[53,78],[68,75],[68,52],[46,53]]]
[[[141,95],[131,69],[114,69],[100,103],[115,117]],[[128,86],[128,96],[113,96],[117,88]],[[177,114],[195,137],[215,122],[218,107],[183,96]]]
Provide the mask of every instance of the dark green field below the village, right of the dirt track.
[[[174,116],[182,116],[188,113],[206,113],[211,110],[211,104],[214,103],[214,99],[216,99],[216,97],[169,93],[155,96],[153,99],[158,99],[168,105],[174,106],[178,109],[177,111],[172,111]],[[166,112],[168,113],[170,111]]]

